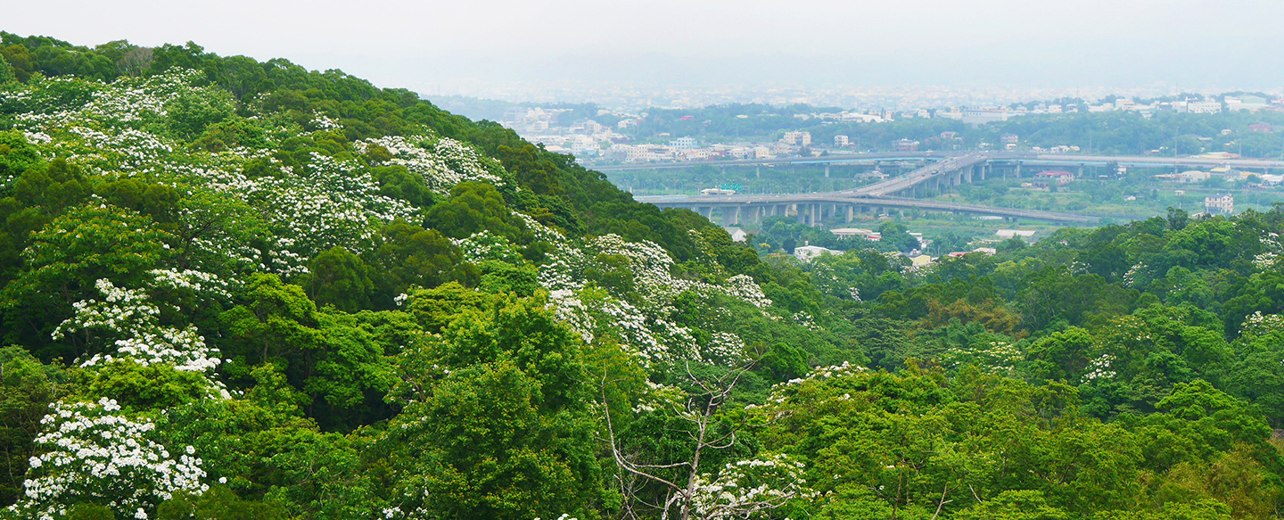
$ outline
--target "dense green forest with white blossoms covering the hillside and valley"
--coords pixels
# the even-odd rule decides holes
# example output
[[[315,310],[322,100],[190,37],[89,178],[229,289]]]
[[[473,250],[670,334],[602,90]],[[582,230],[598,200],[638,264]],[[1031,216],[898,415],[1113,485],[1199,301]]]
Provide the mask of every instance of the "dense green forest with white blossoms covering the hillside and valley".
[[[339,71],[0,41],[6,517],[1284,503],[1284,204],[799,263]]]

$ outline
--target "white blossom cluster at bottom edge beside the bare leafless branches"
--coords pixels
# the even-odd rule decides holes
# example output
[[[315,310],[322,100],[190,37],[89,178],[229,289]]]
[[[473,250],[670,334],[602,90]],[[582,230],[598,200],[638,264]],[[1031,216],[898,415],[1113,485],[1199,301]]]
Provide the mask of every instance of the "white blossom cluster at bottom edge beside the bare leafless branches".
[[[817,496],[802,478],[804,465],[785,455],[729,462],[718,476],[695,479],[692,516],[705,520],[746,519],[791,499]]]

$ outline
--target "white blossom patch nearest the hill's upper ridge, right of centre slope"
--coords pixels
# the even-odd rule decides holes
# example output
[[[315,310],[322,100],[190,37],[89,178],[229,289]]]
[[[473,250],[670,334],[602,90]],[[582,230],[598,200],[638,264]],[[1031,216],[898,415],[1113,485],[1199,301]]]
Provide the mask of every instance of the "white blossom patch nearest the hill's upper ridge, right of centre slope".
[[[424,177],[430,190],[443,195],[464,181],[499,184],[503,171],[494,159],[449,137],[384,136],[354,145],[362,153],[370,145],[385,148],[393,158],[385,160],[384,166],[404,166],[411,173]]]

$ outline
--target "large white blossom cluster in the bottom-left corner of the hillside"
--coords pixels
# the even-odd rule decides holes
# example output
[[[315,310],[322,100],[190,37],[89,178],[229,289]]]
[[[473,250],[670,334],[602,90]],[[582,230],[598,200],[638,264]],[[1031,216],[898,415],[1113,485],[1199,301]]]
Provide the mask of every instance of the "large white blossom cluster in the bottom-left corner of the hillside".
[[[150,438],[155,424],[121,415],[116,401],[54,402],[50,408],[35,440],[40,455],[28,461],[24,499],[10,512],[53,520],[71,505],[96,501],[123,517],[146,519],[176,492],[208,489],[193,447],[173,458]]]

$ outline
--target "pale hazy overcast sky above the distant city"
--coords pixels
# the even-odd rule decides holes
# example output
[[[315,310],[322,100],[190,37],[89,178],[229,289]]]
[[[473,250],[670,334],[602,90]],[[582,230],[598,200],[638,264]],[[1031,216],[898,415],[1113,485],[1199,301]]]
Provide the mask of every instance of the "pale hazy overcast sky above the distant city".
[[[0,0],[0,30],[469,82],[1279,90],[1280,0]]]

